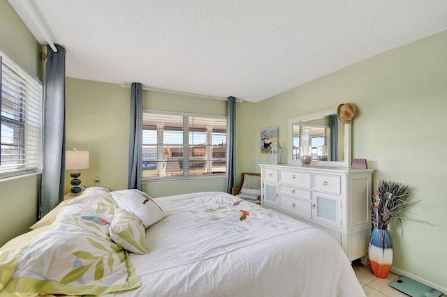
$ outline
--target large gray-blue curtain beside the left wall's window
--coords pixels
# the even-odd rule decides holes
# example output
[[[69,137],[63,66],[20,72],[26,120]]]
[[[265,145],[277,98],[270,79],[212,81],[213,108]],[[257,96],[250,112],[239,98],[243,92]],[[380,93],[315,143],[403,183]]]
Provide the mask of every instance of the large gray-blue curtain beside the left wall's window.
[[[47,46],[43,102],[43,172],[38,219],[64,199],[65,186],[65,49]]]

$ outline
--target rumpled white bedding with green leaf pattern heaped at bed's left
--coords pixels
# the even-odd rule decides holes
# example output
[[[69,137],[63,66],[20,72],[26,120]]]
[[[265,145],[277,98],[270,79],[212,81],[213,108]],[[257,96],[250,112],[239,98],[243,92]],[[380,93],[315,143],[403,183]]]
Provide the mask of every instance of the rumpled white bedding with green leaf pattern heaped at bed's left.
[[[64,203],[50,224],[0,249],[1,293],[103,295],[139,287],[129,252],[110,238],[120,211],[101,188]]]

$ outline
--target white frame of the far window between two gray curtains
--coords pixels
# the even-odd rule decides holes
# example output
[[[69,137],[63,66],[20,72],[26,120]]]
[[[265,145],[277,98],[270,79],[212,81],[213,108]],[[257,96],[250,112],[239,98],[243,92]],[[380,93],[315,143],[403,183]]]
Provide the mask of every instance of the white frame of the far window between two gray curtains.
[[[182,127],[178,126],[173,126],[173,125],[168,125],[165,127],[165,122],[159,124],[158,126],[152,124],[152,125],[147,125],[145,124],[145,114],[160,114],[161,116],[181,116],[182,117]],[[219,120],[224,120],[225,121],[225,128],[212,128],[211,132],[207,132],[207,130],[203,129],[203,128],[196,128],[196,127],[190,127],[189,126],[189,121],[191,121],[191,119],[194,118],[209,118],[209,119],[219,119]],[[163,125],[163,127],[161,127],[161,125]],[[225,161],[225,169],[223,170],[223,172],[213,172],[212,168],[215,166],[213,165],[213,152],[212,152],[212,148],[214,148],[214,144],[212,144],[212,137],[208,136],[206,137],[206,143],[205,144],[191,144],[191,135],[190,135],[190,131],[195,131],[195,132],[207,132],[210,133],[211,135],[213,134],[213,132],[219,132],[225,133],[225,143],[224,144],[220,144],[219,146],[222,147],[224,146],[225,148],[225,152],[226,152],[226,141],[228,139],[228,135],[227,135],[227,127],[226,127],[226,116],[220,116],[220,115],[214,115],[214,114],[193,114],[193,113],[189,113],[189,112],[170,112],[170,111],[164,111],[164,110],[156,110],[156,109],[143,109],[143,124],[142,124],[142,131],[144,134],[144,130],[154,130],[157,131],[156,136],[152,137],[153,140],[156,139],[156,144],[154,143],[149,143],[149,142],[145,142],[145,137],[142,137],[142,154],[145,155],[145,153],[148,153],[147,151],[145,151],[145,147],[147,148],[147,146],[156,146],[156,152],[157,152],[157,158],[158,160],[156,160],[156,170],[157,170],[157,176],[146,176],[146,177],[142,177],[142,182],[143,183],[152,183],[152,182],[160,182],[160,181],[182,181],[182,180],[188,180],[188,179],[200,179],[200,178],[223,178],[226,177],[226,161]],[[151,128],[149,128],[151,127]],[[162,169],[162,165],[163,163],[161,162],[161,158],[164,158],[165,155],[165,148],[166,148],[166,142],[163,141],[163,137],[160,137],[161,133],[163,133],[163,131],[166,130],[175,130],[175,131],[179,131],[182,130],[182,139],[183,142],[182,144],[173,144],[173,146],[181,146],[182,148],[179,149],[178,151],[178,158],[181,158],[179,163],[180,165],[182,165],[182,174],[181,175],[177,175],[177,176],[162,176],[161,172],[163,171]],[[210,138],[209,138],[210,137]],[[222,138],[222,137],[221,137]],[[169,144],[170,142],[168,142]],[[205,146],[205,151],[207,151],[208,153],[211,152],[211,157],[210,158],[206,158],[205,160],[203,160],[205,162],[205,165],[207,162],[211,162],[210,164],[206,165],[209,166],[207,170],[207,172],[205,172],[204,174],[190,174],[190,169],[192,167],[190,167],[190,165],[192,164],[191,162],[193,162],[194,160],[191,160],[191,153],[193,153],[194,149],[193,148],[203,148]],[[216,145],[217,146],[217,145]],[[173,152],[175,153],[175,152]],[[226,154],[226,153],[225,153]],[[206,153],[205,153],[206,155]],[[198,157],[200,158],[200,156]],[[143,159],[142,159],[143,160]],[[225,158],[226,160],[226,158]],[[200,161],[200,160],[199,160]],[[150,161],[149,161],[150,162]],[[187,164],[186,167],[183,167],[184,164]],[[204,166],[205,166],[204,165]],[[152,165],[153,166],[153,165]],[[205,167],[206,168],[206,167]],[[142,166],[142,170],[145,170],[145,166]]]

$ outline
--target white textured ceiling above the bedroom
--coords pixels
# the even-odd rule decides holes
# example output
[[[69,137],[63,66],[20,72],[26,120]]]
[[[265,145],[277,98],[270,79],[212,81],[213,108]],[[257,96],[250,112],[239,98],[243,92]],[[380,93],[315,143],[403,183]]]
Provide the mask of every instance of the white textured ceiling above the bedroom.
[[[251,102],[447,29],[446,0],[28,2],[67,77]]]

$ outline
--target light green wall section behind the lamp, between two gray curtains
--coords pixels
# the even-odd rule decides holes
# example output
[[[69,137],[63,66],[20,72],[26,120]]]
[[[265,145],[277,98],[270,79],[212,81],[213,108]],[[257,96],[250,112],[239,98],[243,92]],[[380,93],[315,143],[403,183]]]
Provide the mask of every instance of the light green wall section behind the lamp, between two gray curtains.
[[[81,169],[82,185],[112,190],[127,188],[130,91],[117,84],[66,78],[66,149],[89,151],[89,169]],[[66,190],[71,177],[66,172]]]

